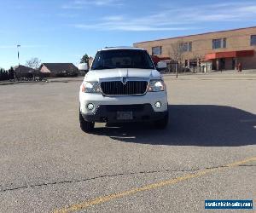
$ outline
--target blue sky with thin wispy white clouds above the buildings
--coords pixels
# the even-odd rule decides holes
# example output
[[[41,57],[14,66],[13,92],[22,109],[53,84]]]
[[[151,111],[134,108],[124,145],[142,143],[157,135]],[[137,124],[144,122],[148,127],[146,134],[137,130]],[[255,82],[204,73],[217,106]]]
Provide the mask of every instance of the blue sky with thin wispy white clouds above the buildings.
[[[0,0],[0,67],[78,65],[97,49],[256,26],[255,0]]]

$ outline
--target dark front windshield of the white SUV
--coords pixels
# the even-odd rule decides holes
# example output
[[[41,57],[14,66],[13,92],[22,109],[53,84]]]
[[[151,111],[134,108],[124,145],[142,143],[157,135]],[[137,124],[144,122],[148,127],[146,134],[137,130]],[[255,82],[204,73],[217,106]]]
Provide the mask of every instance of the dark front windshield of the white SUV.
[[[154,64],[146,50],[113,49],[96,54],[91,70],[114,68],[154,69]]]

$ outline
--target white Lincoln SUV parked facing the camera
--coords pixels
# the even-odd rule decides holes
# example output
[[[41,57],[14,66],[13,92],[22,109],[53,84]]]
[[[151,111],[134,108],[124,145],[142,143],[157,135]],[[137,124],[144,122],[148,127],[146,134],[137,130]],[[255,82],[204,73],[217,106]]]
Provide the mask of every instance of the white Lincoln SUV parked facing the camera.
[[[79,92],[81,129],[95,122],[168,124],[166,84],[148,52],[137,48],[106,48],[96,53]]]

